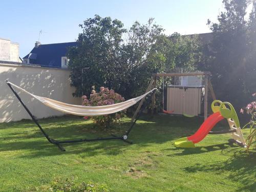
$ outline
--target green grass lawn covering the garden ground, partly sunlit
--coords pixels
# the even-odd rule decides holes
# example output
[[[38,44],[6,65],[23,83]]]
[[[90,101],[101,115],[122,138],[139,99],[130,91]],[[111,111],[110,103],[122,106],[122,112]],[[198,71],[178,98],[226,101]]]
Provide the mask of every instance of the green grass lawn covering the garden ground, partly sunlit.
[[[121,140],[50,144],[30,121],[0,123],[0,191],[33,191],[56,177],[104,183],[110,191],[256,191],[256,153],[227,142],[229,134],[208,135],[196,148],[173,140],[193,134],[201,118],[156,115],[138,120],[127,144]],[[93,138],[109,131],[91,121],[65,116],[40,120],[54,139]],[[219,123],[215,130],[227,126]],[[245,137],[249,130],[243,130]]]

